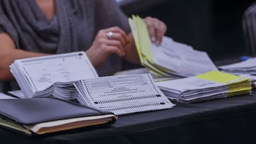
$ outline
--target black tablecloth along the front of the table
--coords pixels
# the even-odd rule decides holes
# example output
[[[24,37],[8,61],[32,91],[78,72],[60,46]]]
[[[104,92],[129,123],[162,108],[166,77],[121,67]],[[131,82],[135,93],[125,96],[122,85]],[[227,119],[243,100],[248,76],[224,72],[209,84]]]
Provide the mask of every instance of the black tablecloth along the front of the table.
[[[119,117],[112,126],[28,137],[0,128],[1,143],[256,143],[256,91]]]

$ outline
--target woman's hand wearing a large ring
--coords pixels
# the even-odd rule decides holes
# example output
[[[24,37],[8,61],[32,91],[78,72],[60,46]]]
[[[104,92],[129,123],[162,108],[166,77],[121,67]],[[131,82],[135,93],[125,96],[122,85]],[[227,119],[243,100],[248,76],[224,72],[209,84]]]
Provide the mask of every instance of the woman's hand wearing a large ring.
[[[127,35],[118,27],[100,30],[92,46],[86,51],[92,65],[98,67],[115,53],[119,57],[124,56],[124,45],[127,43]]]

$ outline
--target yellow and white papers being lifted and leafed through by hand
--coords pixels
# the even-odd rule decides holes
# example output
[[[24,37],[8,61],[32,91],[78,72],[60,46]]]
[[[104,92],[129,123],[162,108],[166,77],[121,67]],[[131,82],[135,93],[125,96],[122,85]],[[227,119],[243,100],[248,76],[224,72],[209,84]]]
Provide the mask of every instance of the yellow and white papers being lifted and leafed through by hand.
[[[140,62],[159,77],[190,77],[217,70],[206,52],[164,36],[161,45],[151,43],[146,24],[139,16],[129,18]]]

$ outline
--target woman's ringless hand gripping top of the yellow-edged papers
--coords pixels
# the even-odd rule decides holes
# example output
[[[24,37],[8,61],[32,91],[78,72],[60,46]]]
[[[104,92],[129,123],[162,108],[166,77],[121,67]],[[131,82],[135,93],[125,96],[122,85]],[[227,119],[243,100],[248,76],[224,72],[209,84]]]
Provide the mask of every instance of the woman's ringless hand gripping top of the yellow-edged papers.
[[[157,18],[152,18],[150,16],[144,18],[144,22],[148,28],[152,43],[160,45],[161,40],[167,31],[166,24],[163,21],[160,21]]]

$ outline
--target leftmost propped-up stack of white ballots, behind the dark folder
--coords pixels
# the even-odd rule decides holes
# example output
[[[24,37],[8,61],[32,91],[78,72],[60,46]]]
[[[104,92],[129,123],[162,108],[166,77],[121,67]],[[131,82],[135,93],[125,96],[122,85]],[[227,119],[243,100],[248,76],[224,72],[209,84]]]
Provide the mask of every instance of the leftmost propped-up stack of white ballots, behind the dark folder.
[[[73,82],[98,77],[85,52],[15,60],[10,68],[23,92],[21,98],[76,99]]]

